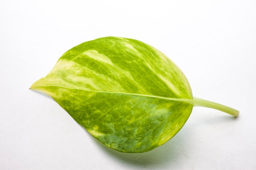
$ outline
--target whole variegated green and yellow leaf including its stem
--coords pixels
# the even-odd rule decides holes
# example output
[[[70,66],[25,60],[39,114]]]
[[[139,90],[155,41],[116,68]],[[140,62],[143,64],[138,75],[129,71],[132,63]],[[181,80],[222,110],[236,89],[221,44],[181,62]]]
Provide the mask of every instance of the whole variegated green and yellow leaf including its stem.
[[[166,55],[128,38],[75,46],[31,89],[50,95],[102,144],[121,152],[146,152],[164,144],[182,128],[193,106],[238,115],[193,98],[186,77]]]

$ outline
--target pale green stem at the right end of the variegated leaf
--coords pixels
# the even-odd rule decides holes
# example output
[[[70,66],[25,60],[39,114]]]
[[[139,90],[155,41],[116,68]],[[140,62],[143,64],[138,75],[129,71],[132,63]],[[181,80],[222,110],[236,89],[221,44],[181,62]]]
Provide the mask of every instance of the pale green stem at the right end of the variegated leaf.
[[[214,108],[216,110],[220,110],[222,112],[228,113],[229,115],[232,116],[238,116],[239,111],[234,109],[234,108],[230,108],[228,106],[224,106],[222,104],[218,104],[215,102],[210,102],[208,100],[204,100],[204,99],[200,99],[197,97],[193,97],[193,106],[202,106],[202,107],[207,107],[207,108]]]

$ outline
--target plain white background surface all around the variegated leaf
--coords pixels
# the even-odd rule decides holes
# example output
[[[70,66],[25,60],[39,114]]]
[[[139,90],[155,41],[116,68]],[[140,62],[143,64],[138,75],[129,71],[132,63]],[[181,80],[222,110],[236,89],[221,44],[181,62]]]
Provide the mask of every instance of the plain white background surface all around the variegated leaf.
[[[163,146],[106,148],[53,99],[29,90],[61,55],[105,36],[141,40],[171,58],[193,95],[234,107],[195,107]],[[255,0],[2,0],[1,170],[255,170]]]

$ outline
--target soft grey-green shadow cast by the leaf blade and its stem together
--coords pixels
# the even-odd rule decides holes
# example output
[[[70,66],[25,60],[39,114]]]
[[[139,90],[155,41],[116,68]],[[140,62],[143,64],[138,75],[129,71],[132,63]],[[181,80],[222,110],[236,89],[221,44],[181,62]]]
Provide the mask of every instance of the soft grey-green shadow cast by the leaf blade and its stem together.
[[[229,121],[238,120],[238,117],[232,117],[230,115],[216,116],[213,118],[206,119],[205,124],[222,124]],[[201,122],[203,123],[203,122]],[[95,142],[103,151],[103,154],[112,159],[126,164],[127,166],[133,166],[137,168],[159,168],[161,167],[172,167],[182,157],[186,157],[186,150],[190,150],[191,144],[189,139],[193,137],[193,129],[198,127],[198,123],[191,121],[189,124],[185,124],[184,127],[178,132],[172,139],[167,141],[162,146],[159,146],[153,150],[144,153],[124,153],[118,152],[111,148],[108,148],[101,144],[97,139],[94,138]]]

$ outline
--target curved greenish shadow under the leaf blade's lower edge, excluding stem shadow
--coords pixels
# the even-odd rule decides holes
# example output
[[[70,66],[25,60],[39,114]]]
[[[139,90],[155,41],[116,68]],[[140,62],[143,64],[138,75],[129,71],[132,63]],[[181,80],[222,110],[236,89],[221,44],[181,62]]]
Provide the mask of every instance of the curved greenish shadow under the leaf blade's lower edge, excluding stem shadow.
[[[95,138],[94,141],[102,150],[102,154],[105,154],[108,157],[112,157],[112,159],[117,162],[126,164],[127,166],[135,166],[137,168],[152,168],[160,165],[164,166],[166,162],[168,162],[168,165],[171,164],[171,162],[176,160],[179,155],[183,154],[181,150],[184,149],[186,142],[188,142],[184,139],[184,135],[176,134],[172,139],[167,141],[162,146],[159,146],[148,152],[125,153],[108,148]]]

